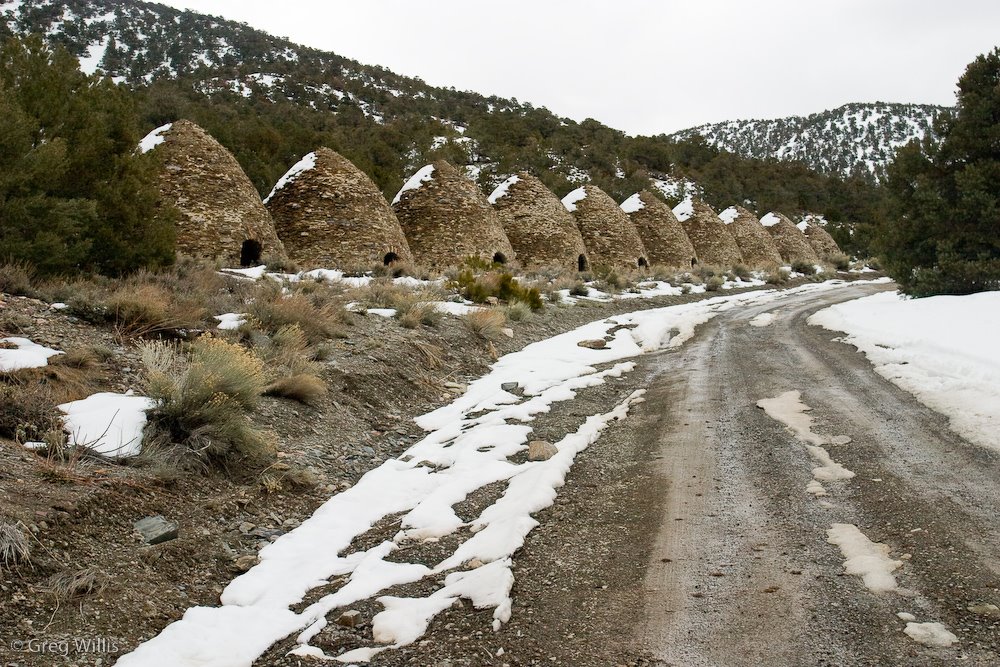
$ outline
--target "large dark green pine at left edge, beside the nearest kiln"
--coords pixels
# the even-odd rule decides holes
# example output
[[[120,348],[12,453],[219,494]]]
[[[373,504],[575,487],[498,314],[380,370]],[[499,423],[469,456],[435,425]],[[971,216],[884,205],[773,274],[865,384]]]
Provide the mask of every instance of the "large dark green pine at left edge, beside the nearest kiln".
[[[154,164],[135,154],[130,93],[38,37],[0,49],[0,260],[42,274],[121,274],[173,261]]]

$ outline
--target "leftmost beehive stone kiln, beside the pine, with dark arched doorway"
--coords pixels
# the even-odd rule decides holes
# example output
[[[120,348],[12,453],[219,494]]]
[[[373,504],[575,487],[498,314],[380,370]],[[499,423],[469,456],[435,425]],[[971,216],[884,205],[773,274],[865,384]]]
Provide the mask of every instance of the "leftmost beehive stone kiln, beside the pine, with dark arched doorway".
[[[180,212],[177,253],[233,265],[285,257],[271,215],[239,162],[191,121],[151,132],[140,150],[162,159],[160,197]]]

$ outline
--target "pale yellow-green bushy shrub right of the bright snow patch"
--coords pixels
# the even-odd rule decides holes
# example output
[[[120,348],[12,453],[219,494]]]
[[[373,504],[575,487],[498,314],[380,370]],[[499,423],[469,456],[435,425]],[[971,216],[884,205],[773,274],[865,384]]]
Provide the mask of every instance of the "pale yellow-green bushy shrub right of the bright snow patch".
[[[248,419],[266,388],[261,360],[234,343],[202,337],[186,358],[178,346],[141,346],[145,392],[156,401],[147,413],[147,442],[155,449],[180,447],[178,459],[224,462],[262,458],[267,438]],[[144,443],[145,445],[145,443]]]

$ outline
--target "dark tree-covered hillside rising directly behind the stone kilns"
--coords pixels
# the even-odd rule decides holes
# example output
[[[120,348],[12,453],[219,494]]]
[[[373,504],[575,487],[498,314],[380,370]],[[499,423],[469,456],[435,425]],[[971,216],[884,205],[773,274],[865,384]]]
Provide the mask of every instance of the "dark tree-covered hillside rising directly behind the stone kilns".
[[[427,85],[381,67],[293,44],[242,23],[138,0],[0,0],[0,36],[39,33],[136,93],[144,130],[178,118],[228,148],[263,195],[288,167],[328,146],[391,198],[438,159],[487,192],[537,174],[563,196],[593,183],[622,201],[651,185],[676,203],[695,183],[717,208],[819,211],[865,220],[881,197],[869,180],[795,162],[745,158],[706,143],[630,137],[495,96]]]

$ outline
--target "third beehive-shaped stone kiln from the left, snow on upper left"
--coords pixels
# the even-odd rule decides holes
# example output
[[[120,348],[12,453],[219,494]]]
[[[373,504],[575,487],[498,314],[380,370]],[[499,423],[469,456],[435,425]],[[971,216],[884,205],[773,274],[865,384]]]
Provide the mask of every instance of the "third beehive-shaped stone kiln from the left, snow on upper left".
[[[479,188],[438,160],[403,186],[392,208],[418,264],[443,269],[469,257],[507,263],[514,249],[496,211]]]

